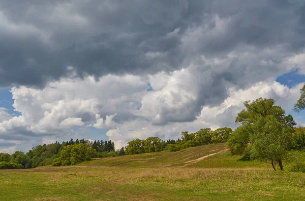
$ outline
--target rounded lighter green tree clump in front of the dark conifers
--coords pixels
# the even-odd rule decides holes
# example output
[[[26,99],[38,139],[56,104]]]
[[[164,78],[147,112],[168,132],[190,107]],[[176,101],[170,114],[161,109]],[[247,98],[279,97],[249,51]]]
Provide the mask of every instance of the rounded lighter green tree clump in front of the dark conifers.
[[[79,143],[65,146],[59,154],[60,157],[53,160],[53,166],[69,166],[90,160],[96,155],[96,151],[87,144]]]

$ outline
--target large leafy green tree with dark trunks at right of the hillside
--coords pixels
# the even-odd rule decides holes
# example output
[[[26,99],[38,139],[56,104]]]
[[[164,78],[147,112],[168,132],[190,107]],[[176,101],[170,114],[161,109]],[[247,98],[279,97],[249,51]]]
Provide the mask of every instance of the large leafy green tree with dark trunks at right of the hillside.
[[[259,98],[244,102],[235,120],[239,127],[232,133],[228,145],[232,153],[275,164],[284,170],[283,161],[291,148],[295,122],[291,115],[275,105],[275,100]]]

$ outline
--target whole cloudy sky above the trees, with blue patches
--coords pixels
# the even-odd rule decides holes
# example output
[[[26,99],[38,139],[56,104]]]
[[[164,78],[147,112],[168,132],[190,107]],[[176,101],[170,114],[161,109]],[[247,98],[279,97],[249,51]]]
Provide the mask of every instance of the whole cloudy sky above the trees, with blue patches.
[[[243,102],[293,105],[305,2],[0,0],[0,152],[236,128]]]

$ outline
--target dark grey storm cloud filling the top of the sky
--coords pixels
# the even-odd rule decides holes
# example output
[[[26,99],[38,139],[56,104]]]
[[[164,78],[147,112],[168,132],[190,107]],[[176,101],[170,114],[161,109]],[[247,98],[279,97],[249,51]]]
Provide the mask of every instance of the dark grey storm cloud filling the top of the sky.
[[[304,8],[297,1],[0,1],[0,85],[42,86],[69,65],[96,77],[173,71],[240,44],[297,52]],[[192,38],[193,49],[181,45],[194,27],[214,29],[215,16],[229,20],[222,33]]]

